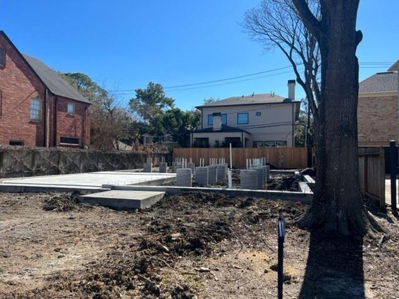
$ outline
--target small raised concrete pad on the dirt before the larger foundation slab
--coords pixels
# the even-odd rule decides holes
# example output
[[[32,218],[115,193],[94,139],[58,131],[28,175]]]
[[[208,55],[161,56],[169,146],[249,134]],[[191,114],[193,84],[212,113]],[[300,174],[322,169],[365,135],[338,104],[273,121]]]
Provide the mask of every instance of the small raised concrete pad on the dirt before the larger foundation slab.
[[[163,191],[110,190],[83,195],[80,202],[96,203],[116,210],[145,209],[164,197]]]

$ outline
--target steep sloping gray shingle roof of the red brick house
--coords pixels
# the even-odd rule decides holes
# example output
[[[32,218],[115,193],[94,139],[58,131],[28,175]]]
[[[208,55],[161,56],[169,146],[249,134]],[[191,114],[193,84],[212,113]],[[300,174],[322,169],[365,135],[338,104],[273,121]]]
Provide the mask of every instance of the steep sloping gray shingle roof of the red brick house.
[[[50,69],[39,59],[22,54],[33,71],[54,95],[69,98],[83,103],[90,103],[75,88],[66,82],[60,75]]]

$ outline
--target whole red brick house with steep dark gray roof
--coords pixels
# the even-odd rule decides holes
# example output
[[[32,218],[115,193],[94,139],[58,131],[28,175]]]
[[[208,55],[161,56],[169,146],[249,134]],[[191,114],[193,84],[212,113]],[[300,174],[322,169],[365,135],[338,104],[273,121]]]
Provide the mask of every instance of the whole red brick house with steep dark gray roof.
[[[0,144],[88,147],[89,101],[0,30]]]

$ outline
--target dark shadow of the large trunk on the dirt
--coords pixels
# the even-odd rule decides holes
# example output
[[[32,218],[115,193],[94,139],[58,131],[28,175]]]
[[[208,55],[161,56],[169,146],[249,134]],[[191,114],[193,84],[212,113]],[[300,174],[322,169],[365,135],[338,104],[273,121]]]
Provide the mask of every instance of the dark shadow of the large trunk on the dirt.
[[[364,299],[363,239],[311,232],[300,299]]]

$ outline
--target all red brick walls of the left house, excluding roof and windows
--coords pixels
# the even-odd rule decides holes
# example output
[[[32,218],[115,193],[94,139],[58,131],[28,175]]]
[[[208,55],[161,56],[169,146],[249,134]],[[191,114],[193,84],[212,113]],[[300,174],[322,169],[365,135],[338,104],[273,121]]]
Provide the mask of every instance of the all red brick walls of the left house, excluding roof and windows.
[[[45,86],[25,63],[7,39],[0,34],[0,46],[5,48],[5,67],[0,67],[2,103],[0,113],[0,144],[23,141],[25,146],[45,147]],[[30,121],[30,99],[42,102],[40,122]],[[49,146],[59,146],[60,137],[77,137],[81,146],[90,144],[90,105],[48,93]],[[75,114],[67,115],[67,103],[75,104]]]

